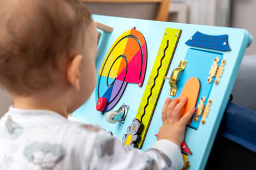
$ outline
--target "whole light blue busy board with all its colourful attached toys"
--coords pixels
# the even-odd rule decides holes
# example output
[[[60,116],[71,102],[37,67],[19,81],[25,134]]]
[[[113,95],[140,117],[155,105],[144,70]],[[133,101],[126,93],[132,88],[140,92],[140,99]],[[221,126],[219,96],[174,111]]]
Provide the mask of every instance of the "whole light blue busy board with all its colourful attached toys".
[[[246,47],[244,29],[93,15],[100,31],[97,87],[72,117],[97,124],[125,145],[157,141],[167,97],[196,107],[181,150],[184,169],[204,169]]]

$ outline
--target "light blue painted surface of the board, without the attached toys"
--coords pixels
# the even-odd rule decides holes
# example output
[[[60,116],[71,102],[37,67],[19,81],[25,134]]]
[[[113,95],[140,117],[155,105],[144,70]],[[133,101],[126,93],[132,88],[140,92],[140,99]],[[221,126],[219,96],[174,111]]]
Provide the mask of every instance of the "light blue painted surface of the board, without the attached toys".
[[[197,130],[188,127],[186,132],[185,141],[188,144],[191,152],[193,152],[193,155],[189,155],[188,157],[189,162],[191,162],[191,167],[189,169],[204,169],[205,163],[207,162],[207,158],[209,156],[209,152],[211,151],[212,143],[220,125],[221,117],[225,111],[225,107],[227,106],[227,101],[236,79],[237,71],[239,69],[239,65],[241,64],[244,51],[246,46],[250,45],[252,42],[252,36],[250,36],[250,34],[244,29],[234,29],[227,27],[178,24],[172,22],[157,22],[151,20],[107,17],[101,15],[94,15],[93,19],[114,28],[113,32],[111,33],[102,33],[98,46],[99,52],[95,63],[97,71],[99,71],[104,57],[106,56],[111,45],[115,42],[115,39],[118,38],[118,36],[120,36],[120,34],[123,32],[132,29],[133,26],[135,26],[138,31],[142,32],[147,42],[148,63],[143,86],[138,87],[137,84],[128,83],[124,92],[124,96],[122,96],[118,104],[116,104],[116,106],[113,108],[113,111],[115,111],[118,110],[120,106],[122,106],[122,103],[129,104],[130,108],[124,124],[109,124],[105,120],[106,114],[101,115],[99,111],[95,110],[95,92],[93,92],[90,99],[88,99],[88,101],[73,114],[73,117],[77,118],[81,122],[88,124],[99,124],[107,131],[113,132],[113,135],[118,136],[120,139],[122,139],[127,127],[131,125],[133,118],[136,116],[148,77],[150,75],[151,68],[154,64],[154,60],[156,58],[159,45],[166,28],[182,30],[175,55],[173,56],[172,64],[168,71],[168,76],[170,76],[173,69],[179,66],[179,61],[185,59],[186,54],[189,52],[189,48],[191,48],[191,46],[186,45],[185,42],[188,41],[188,39],[191,38],[191,36],[193,36],[196,31],[200,31],[209,35],[228,35],[228,43],[231,48],[230,52],[217,52],[214,50],[207,50],[214,53],[223,53],[222,58],[227,60],[225,71],[221,77],[220,84],[212,85],[211,93],[208,96],[210,99],[212,99],[213,102],[209,117],[207,118],[207,122],[205,125],[200,125]],[[193,48],[196,49],[195,47]],[[202,61],[198,62],[198,67],[200,67],[202,64],[204,64]],[[209,71],[207,71],[207,73],[209,73]],[[184,76],[186,77],[186,73]],[[177,93],[178,97],[180,94],[180,89],[184,87],[185,82],[186,80],[181,80],[179,82]],[[166,81],[164,82],[163,90],[159,96],[159,101],[157,103],[156,110],[148,129],[147,137],[145,138],[142,150],[147,150],[156,141],[154,134],[157,134],[159,127],[162,125],[161,110],[163,108],[166,97],[170,97],[168,95],[169,91],[170,85],[168,81]]]

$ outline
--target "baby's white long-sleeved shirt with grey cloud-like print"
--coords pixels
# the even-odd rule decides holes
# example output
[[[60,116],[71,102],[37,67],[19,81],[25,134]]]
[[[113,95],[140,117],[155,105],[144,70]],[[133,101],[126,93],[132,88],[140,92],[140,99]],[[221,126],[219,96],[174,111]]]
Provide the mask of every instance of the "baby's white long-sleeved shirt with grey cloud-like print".
[[[53,111],[10,107],[0,120],[1,170],[181,169],[182,164],[180,148],[171,141],[156,141],[143,152]]]

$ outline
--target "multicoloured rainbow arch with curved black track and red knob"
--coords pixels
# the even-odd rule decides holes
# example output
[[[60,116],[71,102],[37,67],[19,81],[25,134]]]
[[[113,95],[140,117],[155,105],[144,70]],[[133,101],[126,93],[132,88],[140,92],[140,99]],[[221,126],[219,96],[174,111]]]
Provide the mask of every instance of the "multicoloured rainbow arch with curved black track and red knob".
[[[141,87],[146,68],[147,43],[134,27],[116,39],[102,62],[95,90],[97,110],[111,110],[124,94],[127,83],[138,83]],[[102,103],[102,99],[106,102]]]

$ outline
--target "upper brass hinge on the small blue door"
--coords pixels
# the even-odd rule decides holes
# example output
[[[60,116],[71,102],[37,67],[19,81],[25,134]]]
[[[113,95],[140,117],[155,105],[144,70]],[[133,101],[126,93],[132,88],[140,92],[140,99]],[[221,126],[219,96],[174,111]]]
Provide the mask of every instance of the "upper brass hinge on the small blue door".
[[[218,83],[220,83],[220,78],[223,74],[224,66],[225,66],[227,60],[225,60],[225,59],[221,60],[221,64],[220,64],[220,66],[218,66],[219,61],[220,61],[220,59],[218,57],[216,57],[213,60],[213,65],[211,66],[211,70],[210,70],[209,76],[207,78],[207,83],[211,83],[212,78],[214,76],[215,76],[214,84],[218,85]]]

